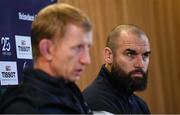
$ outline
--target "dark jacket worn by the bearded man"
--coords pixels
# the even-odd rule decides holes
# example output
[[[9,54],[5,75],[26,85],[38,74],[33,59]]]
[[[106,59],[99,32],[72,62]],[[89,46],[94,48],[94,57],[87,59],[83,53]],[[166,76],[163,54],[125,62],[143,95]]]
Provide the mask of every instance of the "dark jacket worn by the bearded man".
[[[96,80],[88,86],[83,95],[88,106],[94,111],[122,114],[148,114],[146,103],[133,94],[120,90],[103,65]]]

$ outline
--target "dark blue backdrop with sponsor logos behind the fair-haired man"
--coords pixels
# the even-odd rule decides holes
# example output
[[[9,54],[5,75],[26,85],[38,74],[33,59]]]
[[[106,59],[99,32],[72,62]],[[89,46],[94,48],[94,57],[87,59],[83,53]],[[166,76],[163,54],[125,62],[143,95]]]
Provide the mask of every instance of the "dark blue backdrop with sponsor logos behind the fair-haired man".
[[[31,23],[56,0],[0,0],[0,85],[18,85],[22,70],[32,67]]]

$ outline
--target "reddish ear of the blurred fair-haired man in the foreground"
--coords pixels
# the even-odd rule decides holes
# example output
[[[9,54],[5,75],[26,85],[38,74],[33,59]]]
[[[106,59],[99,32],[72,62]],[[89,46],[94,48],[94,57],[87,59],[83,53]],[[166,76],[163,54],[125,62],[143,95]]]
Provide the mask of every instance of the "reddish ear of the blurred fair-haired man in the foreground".
[[[40,54],[47,60],[52,59],[52,41],[48,39],[42,39],[39,43]]]

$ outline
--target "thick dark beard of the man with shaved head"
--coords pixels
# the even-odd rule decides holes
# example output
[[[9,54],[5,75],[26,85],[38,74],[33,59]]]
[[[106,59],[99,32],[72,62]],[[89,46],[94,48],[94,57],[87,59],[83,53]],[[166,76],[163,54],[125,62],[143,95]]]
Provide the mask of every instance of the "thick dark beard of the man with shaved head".
[[[141,72],[143,77],[132,77],[135,72]],[[148,72],[144,72],[142,69],[136,69],[126,73],[119,67],[118,64],[114,63],[110,74],[113,83],[115,83],[121,91],[133,93],[134,91],[143,91],[147,87]]]

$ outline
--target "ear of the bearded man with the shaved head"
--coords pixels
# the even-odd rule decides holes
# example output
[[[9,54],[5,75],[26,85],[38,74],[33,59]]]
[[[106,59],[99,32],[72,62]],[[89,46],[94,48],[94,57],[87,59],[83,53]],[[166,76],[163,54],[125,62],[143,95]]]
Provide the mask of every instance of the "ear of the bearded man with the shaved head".
[[[113,62],[113,53],[109,47],[104,48],[104,60],[108,64],[112,64]]]

